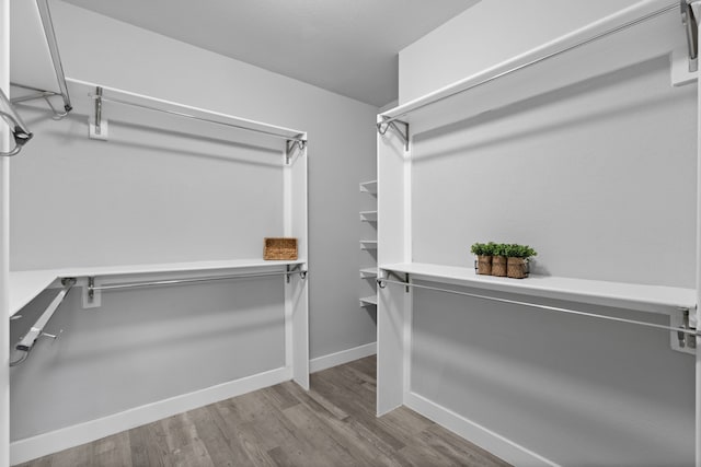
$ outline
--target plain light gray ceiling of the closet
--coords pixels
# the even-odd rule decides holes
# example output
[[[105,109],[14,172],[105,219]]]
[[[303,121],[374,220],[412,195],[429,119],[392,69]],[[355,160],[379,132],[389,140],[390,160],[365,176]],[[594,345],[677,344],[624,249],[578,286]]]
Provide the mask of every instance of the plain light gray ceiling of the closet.
[[[398,52],[480,0],[65,0],[375,106]]]

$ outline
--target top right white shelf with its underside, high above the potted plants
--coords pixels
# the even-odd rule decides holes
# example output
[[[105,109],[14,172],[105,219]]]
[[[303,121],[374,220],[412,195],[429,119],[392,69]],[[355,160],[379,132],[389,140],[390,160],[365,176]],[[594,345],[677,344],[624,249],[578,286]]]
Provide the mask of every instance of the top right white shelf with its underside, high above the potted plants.
[[[378,122],[398,119],[422,132],[682,48],[679,2],[645,0],[383,112]]]

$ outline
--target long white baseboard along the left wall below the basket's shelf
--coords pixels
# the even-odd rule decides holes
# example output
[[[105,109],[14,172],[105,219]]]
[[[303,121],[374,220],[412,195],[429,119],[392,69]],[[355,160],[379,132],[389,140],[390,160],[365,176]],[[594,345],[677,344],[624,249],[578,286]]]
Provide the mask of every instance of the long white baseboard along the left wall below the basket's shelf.
[[[21,464],[47,454],[90,443],[111,434],[151,423],[187,410],[289,381],[291,369],[276,369],[206,389],[159,400],[96,420],[10,443],[10,464]]]

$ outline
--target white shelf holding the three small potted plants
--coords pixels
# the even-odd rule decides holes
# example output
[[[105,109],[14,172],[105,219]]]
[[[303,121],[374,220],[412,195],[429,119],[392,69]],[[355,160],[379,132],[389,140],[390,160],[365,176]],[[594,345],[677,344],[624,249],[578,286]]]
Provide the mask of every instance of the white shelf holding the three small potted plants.
[[[422,262],[381,265],[380,269],[409,273],[414,279],[453,283],[495,292],[669,314],[671,308],[696,308],[693,289],[608,282],[531,275],[527,279],[479,276],[473,268]]]

